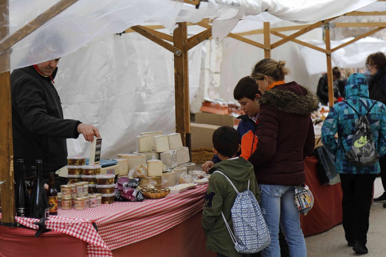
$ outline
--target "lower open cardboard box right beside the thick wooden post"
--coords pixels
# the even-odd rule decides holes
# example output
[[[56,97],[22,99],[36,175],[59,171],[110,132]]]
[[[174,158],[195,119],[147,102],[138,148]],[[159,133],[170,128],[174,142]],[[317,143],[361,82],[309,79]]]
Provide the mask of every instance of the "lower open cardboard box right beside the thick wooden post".
[[[219,126],[209,124],[190,123],[192,149],[213,148],[212,135]]]

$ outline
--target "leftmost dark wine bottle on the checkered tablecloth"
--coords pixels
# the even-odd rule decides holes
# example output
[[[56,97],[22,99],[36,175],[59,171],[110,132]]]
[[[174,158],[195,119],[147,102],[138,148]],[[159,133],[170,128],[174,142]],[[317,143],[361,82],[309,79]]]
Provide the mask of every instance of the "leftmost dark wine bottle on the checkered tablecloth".
[[[18,159],[17,168],[19,176],[17,177],[15,185],[15,207],[17,217],[29,217],[30,215],[29,195],[27,186],[25,185],[23,165],[24,161],[22,159]]]

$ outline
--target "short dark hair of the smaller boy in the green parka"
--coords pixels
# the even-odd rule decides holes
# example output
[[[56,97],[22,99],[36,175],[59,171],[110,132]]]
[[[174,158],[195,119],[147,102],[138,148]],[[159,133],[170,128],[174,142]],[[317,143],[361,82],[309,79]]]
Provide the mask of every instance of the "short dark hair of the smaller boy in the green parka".
[[[222,156],[232,158],[239,150],[239,134],[236,129],[222,126],[213,132],[213,147]]]

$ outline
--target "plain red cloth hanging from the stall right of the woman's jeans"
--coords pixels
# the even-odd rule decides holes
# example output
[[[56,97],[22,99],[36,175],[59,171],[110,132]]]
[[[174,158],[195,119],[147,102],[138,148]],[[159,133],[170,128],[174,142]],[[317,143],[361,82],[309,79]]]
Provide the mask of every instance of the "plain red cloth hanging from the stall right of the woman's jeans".
[[[320,185],[317,158],[305,159],[306,185],[310,187],[315,203],[307,216],[300,215],[303,234],[315,235],[326,231],[342,222],[342,188],[335,185]]]

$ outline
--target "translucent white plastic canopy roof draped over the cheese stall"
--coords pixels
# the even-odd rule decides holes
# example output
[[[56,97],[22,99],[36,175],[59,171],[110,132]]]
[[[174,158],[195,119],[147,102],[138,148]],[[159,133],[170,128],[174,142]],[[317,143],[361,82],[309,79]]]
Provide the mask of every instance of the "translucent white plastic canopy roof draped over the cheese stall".
[[[217,18],[213,22],[213,38],[220,42],[240,18],[254,21],[278,19],[312,22],[335,17],[359,8],[380,10],[386,3],[369,5],[376,0],[209,0],[199,9],[172,0],[78,0],[64,12],[22,39],[12,47],[11,70],[45,60],[68,55],[108,34],[156,22],[169,31],[175,22],[198,22],[202,18]],[[10,32],[27,24],[58,0],[10,0]],[[331,8],[333,7],[333,8]],[[266,12],[264,12],[267,10]],[[0,72],[6,71],[0,64]]]

